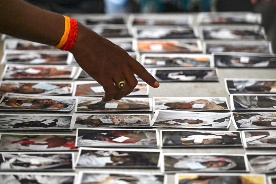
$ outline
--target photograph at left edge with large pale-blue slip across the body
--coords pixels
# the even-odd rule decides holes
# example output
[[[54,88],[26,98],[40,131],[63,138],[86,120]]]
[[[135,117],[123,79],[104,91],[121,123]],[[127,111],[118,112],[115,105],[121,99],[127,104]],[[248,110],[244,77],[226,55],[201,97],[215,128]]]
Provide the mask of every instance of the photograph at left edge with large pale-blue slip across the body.
[[[1,81],[0,94],[67,95],[73,92],[73,82]]]

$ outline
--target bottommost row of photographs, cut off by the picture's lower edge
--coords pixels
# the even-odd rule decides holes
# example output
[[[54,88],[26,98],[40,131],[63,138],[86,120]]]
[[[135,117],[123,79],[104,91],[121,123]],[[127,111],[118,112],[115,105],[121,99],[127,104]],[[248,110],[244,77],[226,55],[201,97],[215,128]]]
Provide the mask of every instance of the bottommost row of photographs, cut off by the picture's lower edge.
[[[0,181],[5,183],[32,182],[45,184],[43,181],[55,184],[167,184],[167,175],[161,173],[131,173],[131,172],[93,172],[81,171],[74,173],[0,173]],[[268,177],[269,184],[275,184],[276,177]],[[170,182],[172,183],[172,182]],[[177,173],[175,184],[224,183],[224,184],[266,184],[266,177],[262,174],[246,173]]]

